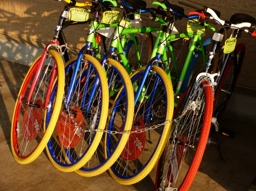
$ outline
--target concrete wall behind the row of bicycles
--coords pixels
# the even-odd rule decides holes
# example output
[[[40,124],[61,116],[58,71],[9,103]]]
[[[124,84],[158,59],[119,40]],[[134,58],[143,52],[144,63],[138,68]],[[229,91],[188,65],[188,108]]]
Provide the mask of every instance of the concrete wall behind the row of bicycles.
[[[152,0],[146,0],[148,7],[151,6]],[[81,1],[80,1],[81,2]],[[170,1],[177,4],[178,0]],[[256,1],[239,1],[239,0],[215,0],[204,1],[197,0],[198,3],[205,4],[221,12],[221,19],[229,20],[234,13],[247,13],[256,18]],[[185,8],[185,13],[193,9]],[[53,0],[1,0],[0,1],[0,57],[6,58],[12,54],[13,60],[21,63],[30,62],[29,57],[36,57],[42,46],[45,46],[54,36],[54,30],[58,24],[60,12],[63,9],[63,3]],[[144,26],[157,26],[158,24],[143,17]],[[175,23],[180,32],[186,31],[186,21],[181,20]],[[68,46],[72,49],[80,49],[86,41],[88,25],[72,26],[64,30]],[[210,36],[211,31],[206,31]],[[206,36],[207,37],[207,36]],[[16,40],[20,39],[20,40]],[[244,34],[238,43],[246,44],[246,57],[244,66],[238,80],[238,85],[256,89],[256,64],[255,50],[256,38]],[[30,46],[25,48],[19,46],[19,43]],[[38,49],[40,48],[40,49]],[[26,58],[23,58],[23,53]],[[25,61],[24,61],[25,59]]]

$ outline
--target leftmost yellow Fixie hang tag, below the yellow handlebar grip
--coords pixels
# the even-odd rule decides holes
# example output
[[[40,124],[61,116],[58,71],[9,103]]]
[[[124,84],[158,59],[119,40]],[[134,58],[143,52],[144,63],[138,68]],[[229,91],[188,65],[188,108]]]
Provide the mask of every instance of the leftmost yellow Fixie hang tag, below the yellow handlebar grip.
[[[69,19],[78,22],[87,21],[89,19],[89,11],[78,7],[70,8]]]

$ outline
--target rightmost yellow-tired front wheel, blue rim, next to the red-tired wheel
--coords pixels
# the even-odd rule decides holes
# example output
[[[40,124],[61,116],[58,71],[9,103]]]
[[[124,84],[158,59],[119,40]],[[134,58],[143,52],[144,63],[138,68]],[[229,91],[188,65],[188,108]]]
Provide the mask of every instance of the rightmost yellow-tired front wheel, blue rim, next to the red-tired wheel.
[[[106,158],[111,157],[115,152],[115,145],[120,138],[128,138],[121,154],[112,167],[108,169],[113,179],[126,185],[139,182],[153,169],[168,140],[171,127],[170,120],[173,117],[173,89],[166,72],[158,66],[153,66],[153,74],[149,73],[145,81],[142,82],[145,68],[146,66],[136,70],[131,76],[134,93],[136,93],[140,83],[143,83],[139,100],[135,103],[132,133],[128,136],[118,133],[117,135],[111,133],[105,135]],[[124,103],[122,97],[124,96],[125,93],[121,92],[120,98],[116,99],[115,104],[122,105],[121,103]],[[164,100],[163,112],[165,117],[161,120],[153,119],[151,105],[161,99]],[[121,113],[125,112],[123,108],[112,111],[112,117],[107,125],[109,131],[124,131],[122,125],[124,120],[120,111]]]

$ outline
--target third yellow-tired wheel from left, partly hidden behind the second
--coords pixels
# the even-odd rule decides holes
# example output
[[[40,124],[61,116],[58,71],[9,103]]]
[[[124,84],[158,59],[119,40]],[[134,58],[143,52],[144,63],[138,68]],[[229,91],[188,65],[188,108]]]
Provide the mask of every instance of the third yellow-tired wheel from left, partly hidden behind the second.
[[[111,129],[115,132],[129,131],[132,127],[134,113],[134,94],[131,80],[124,67],[113,59],[108,59],[106,73],[108,76],[109,88],[109,117],[108,122],[112,118],[118,119],[115,121],[115,128]],[[121,95],[121,96],[120,96]],[[124,145],[129,137],[129,134],[118,136],[115,134],[115,142],[113,143],[113,152],[106,158],[108,151],[106,150],[106,135],[101,138],[100,143],[91,159],[86,162],[82,168],[76,173],[85,176],[96,176],[105,172],[120,156]],[[111,134],[112,135],[112,134]]]

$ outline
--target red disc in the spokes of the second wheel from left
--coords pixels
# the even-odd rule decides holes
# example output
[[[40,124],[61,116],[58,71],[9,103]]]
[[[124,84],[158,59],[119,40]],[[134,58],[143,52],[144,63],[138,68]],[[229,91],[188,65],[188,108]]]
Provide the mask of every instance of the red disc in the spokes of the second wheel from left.
[[[75,148],[83,137],[82,129],[85,128],[83,122],[83,115],[81,110],[77,106],[69,108],[71,110],[71,116],[76,121],[76,127],[74,121],[71,119],[67,112],[62,111],[57,121],[57,133],[59,135],[60,144],[64,149]],[[74,113],[76,111],[76,113]]]

